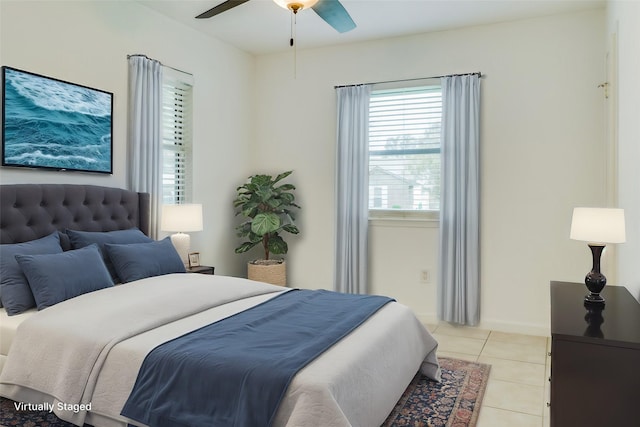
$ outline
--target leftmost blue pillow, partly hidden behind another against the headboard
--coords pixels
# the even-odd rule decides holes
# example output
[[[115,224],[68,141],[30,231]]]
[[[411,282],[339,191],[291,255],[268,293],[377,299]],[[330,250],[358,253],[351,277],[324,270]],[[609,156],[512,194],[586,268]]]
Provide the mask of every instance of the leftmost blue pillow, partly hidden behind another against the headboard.
[[[9,316],[20,314],[36,306],[29,282],[15,256],[61,252],[60,236],[57,231],[29,242],[0,245],[0,299]]]

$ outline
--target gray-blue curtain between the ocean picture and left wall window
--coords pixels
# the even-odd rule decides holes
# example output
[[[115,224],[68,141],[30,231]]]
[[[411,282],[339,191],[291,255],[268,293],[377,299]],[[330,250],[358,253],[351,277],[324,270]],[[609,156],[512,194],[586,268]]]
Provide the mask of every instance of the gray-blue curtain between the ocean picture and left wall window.
[[[129,187],[151,195],[149,234],[157,238],[162,203],[162,64],[129,57]]]

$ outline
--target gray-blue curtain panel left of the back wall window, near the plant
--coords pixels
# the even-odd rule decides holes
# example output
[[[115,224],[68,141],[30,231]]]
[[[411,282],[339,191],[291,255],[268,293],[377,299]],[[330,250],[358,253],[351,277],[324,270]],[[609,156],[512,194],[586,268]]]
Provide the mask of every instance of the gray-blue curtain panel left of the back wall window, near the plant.
[[[367,293],[369,97],[371,86],[337,88],[337,221],[335,289]]]

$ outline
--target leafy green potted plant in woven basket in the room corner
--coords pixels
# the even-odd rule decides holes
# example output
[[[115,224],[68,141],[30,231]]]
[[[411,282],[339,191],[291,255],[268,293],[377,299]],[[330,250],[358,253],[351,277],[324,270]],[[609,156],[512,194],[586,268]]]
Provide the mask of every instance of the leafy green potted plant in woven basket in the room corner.
[[[251,280],[286,285],[286,264],[283,259],[271,259],[272,254],[284,255],[289,250],[281,233],[298,234],[294,224],[293,209],[299,209],[295,203],[292,184],[280,184],[280,181],[293,171],[283,172],[273,178],[271,175],[253,175],[249,181],[238,187],[233,202],[236,216],[246,218],[236,227],[238,237],[246,238],[235,250],[241,254],[255,246],[262,245],[264,258],[249,262],[248,277]]]

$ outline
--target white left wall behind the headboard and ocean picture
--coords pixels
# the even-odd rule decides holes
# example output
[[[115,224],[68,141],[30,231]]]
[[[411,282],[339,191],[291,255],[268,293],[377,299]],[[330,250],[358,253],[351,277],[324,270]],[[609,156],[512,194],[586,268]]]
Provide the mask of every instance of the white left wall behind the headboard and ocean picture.
[[[127,54],[146,54],[194,75],[194,200],[205,231],[192,249],[216,272],[241,274],[231,201],[249,172],[253,58],[135,2],[2,0],[0,19],[2,65],[114,93],[113,175],[2,168],[2,183],[126,187]]]

